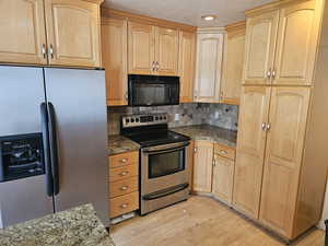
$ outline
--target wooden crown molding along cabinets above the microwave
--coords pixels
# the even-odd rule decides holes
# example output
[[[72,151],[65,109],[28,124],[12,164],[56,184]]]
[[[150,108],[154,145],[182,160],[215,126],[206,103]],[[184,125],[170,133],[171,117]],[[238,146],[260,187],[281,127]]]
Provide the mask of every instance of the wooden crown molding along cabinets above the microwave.
[[[150,16],[140,15],[140,14],[133,14],[130,12],[114,10],[114,9],[109,9],[109,8],[105,8],[105,7],[102,7],[102,17],[125,19],[127,21],[139,22],[139,23],[143,23],[143,24],[155,25],[155,26],[165,27],[165,28],[183,30],[183,31],[192,32],[192,33],[195,33],[197,30],[197,27],[192,26],[192,25],[181,24],[181,23],[166,21],[166,20],[156,19],[156,17],[150,17]]]

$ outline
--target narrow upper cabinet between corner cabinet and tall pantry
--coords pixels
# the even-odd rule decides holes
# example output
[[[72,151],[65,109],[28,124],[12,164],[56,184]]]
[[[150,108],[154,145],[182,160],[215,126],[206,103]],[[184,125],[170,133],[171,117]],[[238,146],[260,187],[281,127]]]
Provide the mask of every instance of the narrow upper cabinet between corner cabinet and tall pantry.
[[[226,26],[225,30],[220,101],[223,104],[238,105],[243,81],[246,23],[238,22]]]

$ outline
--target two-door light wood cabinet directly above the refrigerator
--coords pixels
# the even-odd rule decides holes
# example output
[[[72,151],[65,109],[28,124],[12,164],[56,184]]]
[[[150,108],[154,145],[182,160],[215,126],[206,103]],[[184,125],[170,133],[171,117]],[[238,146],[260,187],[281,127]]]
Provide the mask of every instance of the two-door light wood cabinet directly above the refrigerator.
[[[99,2],[1,1],[0,62],[99,67]]]

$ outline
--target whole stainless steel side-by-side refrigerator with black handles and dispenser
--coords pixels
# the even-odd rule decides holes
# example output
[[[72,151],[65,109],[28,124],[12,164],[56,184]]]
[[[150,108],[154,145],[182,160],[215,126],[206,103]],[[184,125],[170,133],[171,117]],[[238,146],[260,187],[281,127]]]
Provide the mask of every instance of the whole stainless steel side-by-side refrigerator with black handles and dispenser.
[[[0,227],[92,203],[108,226],[102,70],[0,67]]]

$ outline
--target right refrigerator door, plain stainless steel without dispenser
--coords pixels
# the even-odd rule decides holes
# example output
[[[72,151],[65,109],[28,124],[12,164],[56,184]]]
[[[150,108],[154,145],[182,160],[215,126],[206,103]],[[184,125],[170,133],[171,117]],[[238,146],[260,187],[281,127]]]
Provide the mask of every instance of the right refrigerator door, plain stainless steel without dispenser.
[[[56,211],[92,203],[108,226],[105,73],[47,68],[45,77],[57,129],[59,194],[55,197]]]

